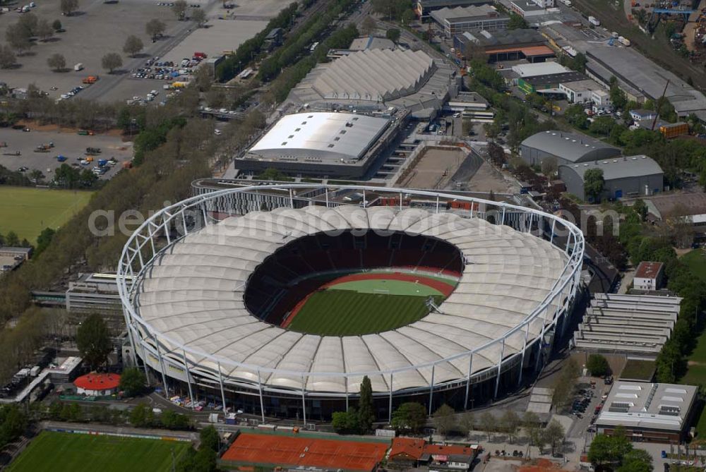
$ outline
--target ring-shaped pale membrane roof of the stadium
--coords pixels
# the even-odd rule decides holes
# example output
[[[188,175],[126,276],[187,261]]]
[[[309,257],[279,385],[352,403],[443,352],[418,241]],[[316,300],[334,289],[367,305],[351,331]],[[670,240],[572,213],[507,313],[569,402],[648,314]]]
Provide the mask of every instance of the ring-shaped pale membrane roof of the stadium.
[[[440,313],[388,332],[349,337],[288,331],[249,313],[243,301],[245,286],[265,258],[294,238],[346,229],[423,234],[459,248],[467,263],[455,291],[439,306]],[[232,379],[257,382],[262,368],[265,385],[342,393],[357,392],[362,376],[349,375],[346,381],[332,374],[373,373],[369,377],[376,392],[397,391],[428,387],[432,375],[436,385],[465,379],[467,357],[438,363],[434,373],[428,366],[414,366],[503,337],[555,290],[566,262],[563,250],[549,241],[479,218],[414,208],[279,208],[229,217],[177,241],[145,272],[133,303],[157,337],[172,340],[161,340],[164,345],[188,345],[203,353],[186,353],[193,363],[220,369]],[[569,286],[565,292],[569,296]],[[554,315],[556,307],[546,313]],[[473,372],[497,365],[501,355],[521,352],[545,322],[551,319],[534,317],[527,334],[517,330],[506,339],[503,351],[496,342],[475,353]],[[395,372],[391,387],[388,375],[374,374],[405,368]]]

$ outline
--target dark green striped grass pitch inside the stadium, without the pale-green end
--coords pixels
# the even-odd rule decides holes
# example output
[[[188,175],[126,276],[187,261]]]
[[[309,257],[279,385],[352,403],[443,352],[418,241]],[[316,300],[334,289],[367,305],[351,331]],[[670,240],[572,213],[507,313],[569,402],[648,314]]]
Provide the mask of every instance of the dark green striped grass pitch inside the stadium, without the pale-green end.
[[[443,299],[442,296],[435,298],[436,303]],[[356,336],[388,331],[408,325],[429,313],[425,301],[426,296],[319,291],[309,297],[292,318],[288,329],[323,336]]]

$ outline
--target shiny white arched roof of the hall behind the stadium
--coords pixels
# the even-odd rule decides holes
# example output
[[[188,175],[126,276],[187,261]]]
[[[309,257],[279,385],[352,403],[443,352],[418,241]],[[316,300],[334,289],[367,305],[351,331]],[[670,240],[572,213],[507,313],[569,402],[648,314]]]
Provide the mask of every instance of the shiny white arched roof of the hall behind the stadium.
[[[385,131],[389,119],[316,112],[282,116],[249,153],[265,159],[310,157],[325,161],[360,159]]]

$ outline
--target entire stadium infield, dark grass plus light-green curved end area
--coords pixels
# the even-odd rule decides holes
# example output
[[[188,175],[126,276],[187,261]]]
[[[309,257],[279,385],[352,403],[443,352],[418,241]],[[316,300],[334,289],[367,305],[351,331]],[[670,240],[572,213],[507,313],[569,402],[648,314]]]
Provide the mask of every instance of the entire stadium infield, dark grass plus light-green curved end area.
[[[426,300],[441,303],[440,291],[400,280],[342,282],[317,291],[288,329],[322,336],[357,336],[408,325],[429,313]]]

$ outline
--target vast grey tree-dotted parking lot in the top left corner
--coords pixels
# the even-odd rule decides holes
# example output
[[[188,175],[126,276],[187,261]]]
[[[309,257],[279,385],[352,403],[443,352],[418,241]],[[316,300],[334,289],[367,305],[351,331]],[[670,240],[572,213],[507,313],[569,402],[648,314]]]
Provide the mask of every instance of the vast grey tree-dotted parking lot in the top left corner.
[[[50,97],[59,98],[69,90],[82,85],[88,75],[99,75],[94,85],[79,92],[76,97],[123,101],[132,97],[145,97],[152,89],[162,90],[163,81],[132,77],[132,71],[143,67],[145,61],[159,56],[163,60],[181,61],[191,58],[194,52],[205,52],[209,56],[237,49],[241,42],[262,30],[268,18],[277,14],[286,4],[277,0],[244,0],[238,2],[232,12],[237,20],[226,18],[222,2],[217,0],[193,0],[199,4],[209,19],[208,28],[196,28],[190,21],[177,21],[168,5],[152,0],[119,0],[116,4],[105,4],[103,0],[80,0],[78,12],[62,16],[59,2],[37,1],[31,8],[40,20],[51,24],[60,20],[64,32],[56,33],[47,42],[37,41],[31,52],[18,57],[18,66],[6,69],[2,81],[10,87],[27,87],[34,83],[49,92]],[[9,25],[16,23],[24,13],[11,11],[0,15],[0,37],[5,36]],[[145,24],[157,18],[164,22],[164,37],[152,42],[145,32]],[[122,52],[128,35],[136,35],[145,48],[131,58]],[[123,65],[108,74],[102,68],[101,59],[109,53],[121,55]],[[64,72],[53,72],[47,65],[52,54],[63,54],[66,59]],[[82,63],[83,71],[74,71],[73,66]]]

